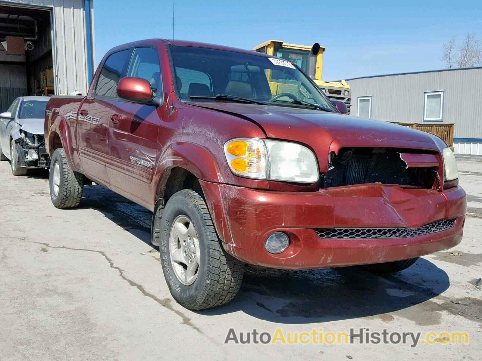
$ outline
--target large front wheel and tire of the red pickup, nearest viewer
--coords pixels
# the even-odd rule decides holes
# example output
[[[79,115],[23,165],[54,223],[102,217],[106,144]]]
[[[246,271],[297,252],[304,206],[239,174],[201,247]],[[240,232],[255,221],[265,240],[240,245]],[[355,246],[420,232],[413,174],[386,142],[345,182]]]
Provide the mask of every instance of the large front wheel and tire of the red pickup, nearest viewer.
[[[187,309],[209,309],[236,296],[244,264],[223,249],[199,193],[175,193],[152,228],[161,236],[162,271],[178,303]]]

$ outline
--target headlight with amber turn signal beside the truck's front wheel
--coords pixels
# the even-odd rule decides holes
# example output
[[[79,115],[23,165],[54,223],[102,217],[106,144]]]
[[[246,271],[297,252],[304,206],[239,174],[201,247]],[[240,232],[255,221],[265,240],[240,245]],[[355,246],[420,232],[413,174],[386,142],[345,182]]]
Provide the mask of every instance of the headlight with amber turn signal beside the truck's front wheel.
[[[307,147],[255,138],[233,139],[224,145],[231,171],[241,177],[313,183],[318,181],[318,163]]]

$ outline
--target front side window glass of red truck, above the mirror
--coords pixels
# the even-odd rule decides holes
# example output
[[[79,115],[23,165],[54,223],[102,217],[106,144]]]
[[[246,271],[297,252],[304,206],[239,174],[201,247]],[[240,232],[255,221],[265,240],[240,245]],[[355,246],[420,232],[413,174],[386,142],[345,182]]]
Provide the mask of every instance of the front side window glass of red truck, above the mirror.
[[[152,88],[152,95],[156,96],[161,90],[161,65],[159,53],[153,48],[136,48],[129,64],[126,77],[140,77],[146,79]]]

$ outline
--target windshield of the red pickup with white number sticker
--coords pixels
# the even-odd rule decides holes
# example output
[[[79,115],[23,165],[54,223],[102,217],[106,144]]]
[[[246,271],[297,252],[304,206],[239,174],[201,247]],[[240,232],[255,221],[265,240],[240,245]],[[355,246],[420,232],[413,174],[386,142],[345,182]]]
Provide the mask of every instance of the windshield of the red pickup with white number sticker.
[[[311,79],[291,62],[193,46],[174,45],[171,50],[178,96],[183,101],[216,98],[334,111]]]

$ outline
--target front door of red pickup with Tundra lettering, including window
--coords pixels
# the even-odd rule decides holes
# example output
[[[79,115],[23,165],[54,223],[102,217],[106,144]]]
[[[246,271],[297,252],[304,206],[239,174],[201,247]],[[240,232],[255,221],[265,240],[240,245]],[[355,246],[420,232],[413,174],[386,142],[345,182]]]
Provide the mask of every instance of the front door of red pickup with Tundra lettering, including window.
[[[125,76],[146,79],[152,95],[161,95],[158,50],[135,48]],[[153,105],[116,99],[108,119],[106,167],[111,188],[146,207],[152,203],[151,183],[161,113]]]

